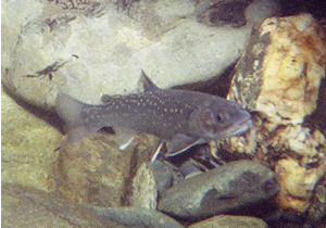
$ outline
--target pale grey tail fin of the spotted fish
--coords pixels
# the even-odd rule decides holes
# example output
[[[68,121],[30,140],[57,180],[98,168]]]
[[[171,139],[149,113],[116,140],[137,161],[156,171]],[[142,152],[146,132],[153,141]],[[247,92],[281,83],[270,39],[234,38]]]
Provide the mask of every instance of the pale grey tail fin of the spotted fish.
[[[65,123],[67,142],[70,144],[76,144],[83,138],[101,128],[86,123],[85,119],[83,119],[82,112],[88,106],[90,105],[84,104],[67,94],[58,93],[57,96],[55,110],[58,115]]]

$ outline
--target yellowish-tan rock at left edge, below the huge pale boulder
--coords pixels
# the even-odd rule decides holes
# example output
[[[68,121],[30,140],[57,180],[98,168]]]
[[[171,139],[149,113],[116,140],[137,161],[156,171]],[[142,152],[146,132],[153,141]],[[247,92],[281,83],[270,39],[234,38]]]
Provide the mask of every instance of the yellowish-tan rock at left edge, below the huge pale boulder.
[[[35,106],[21,106],[2,89],[2,181],[54,191],[53,173],[58,157],[55,149],[60,145],[62,135],[49,123],[55,124],[53,114]]]

